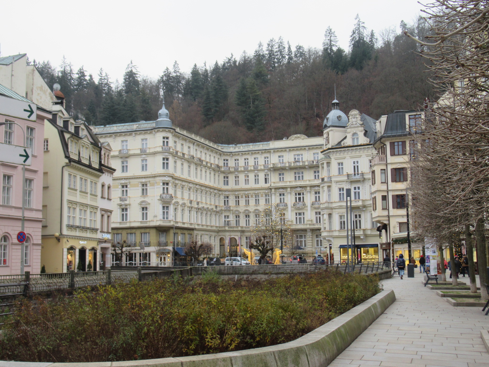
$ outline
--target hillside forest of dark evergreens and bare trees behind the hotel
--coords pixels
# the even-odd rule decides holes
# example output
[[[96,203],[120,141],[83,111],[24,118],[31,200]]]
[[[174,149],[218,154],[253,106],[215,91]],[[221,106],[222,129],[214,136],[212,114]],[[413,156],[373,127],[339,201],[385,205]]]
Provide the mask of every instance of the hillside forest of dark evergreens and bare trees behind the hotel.
[[[181,71],[175,61],[157,78],[140,75],[133,61],[122,82],[77,71],[66,59],[34,65],[48,86],[61,85],[67,111],[90,125],[153,121],[162,91],[174,125],[221,144],[322,135],[324,116],[336,96],[348,114],[357,109],[375,119],[394,110],[419,108],[433,99],[419,46],[402,33],[422,39],[430,30],[419,17],[377,34],[355,18],[349,49],[338,46],[331,27],[321,47],[291,46],[282,37],[261,42],[253,52],[222,63]],[[96,80],[95,80],[96,79]]]

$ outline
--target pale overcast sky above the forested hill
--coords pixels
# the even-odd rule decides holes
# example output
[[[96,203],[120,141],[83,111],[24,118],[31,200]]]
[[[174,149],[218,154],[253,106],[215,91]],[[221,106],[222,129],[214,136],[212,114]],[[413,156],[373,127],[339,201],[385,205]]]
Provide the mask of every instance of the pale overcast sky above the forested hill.
[[[272,37],[320,47],[328,25],[347,49],[357,13],[378,33],[399,31],[421,8],[416,0],[1,1],[0,52],[56,67],[65,55],[75,70],[83,65],[97,79],[103,68],[112,81],[133,60],[142,75],[157,77],[175,60],[188,72],[231,53],[239,59]]]

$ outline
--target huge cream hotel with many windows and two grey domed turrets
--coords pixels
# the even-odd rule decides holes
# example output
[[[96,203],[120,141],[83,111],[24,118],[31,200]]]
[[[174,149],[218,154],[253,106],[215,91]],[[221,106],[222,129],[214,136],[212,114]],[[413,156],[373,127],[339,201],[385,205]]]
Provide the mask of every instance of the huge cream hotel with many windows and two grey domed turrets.
[[[378,260],[370,166],[376,120],[334,100],[323,137],[293,135],[252,144],[213,143],[173,126],[163,108],[156,121],[93,126],[112,147],[113,242],[126,240],[126,264],[167,266],[192,239],[213,254],[247,247],[250,229],[277,206],[304,255],[346,258],[345,190],[352,189],[356,245]]]

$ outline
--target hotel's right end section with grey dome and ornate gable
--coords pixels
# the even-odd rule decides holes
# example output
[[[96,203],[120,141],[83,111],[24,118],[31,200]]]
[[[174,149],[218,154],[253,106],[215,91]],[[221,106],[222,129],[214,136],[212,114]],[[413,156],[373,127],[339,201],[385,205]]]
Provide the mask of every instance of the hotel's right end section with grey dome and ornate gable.
[[[336,101],[337,102],[337,101]],[[352,110],[346,116],[339,103],[325,121],[324,158],[321,160],[324,247],[331,247],[334,261],[348,258],[346,226],[355,229],[356,255],[359,261],[378,261],[377,224],[372,221],[370,165],[375,149],[375,120]],[[336,108],[336,110],[335,110]],[[337,113],[335,113],[337,112]],[[338,118],[338,116],[340,118]],[[352,221],[346,217],[346,190],[351,189]]]

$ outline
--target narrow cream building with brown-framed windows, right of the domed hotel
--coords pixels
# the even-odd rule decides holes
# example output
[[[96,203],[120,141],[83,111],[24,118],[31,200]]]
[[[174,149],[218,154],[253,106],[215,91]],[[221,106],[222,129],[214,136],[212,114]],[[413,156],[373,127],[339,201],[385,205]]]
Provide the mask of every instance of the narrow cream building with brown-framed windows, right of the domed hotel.
[[[423,113],[395,111],[377,121],[376,156],[372,160],[373,220],[382,229],[382,256],[400,253],[408,258],[406,194],[409,194],[409,161],[416,159],[412,135],[421,132]],[[394,244],[392,244],[394,243]],[[418,260],[422,243],[412,243],[412,255]]]

